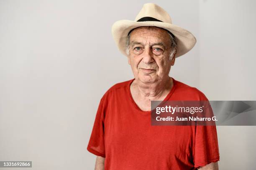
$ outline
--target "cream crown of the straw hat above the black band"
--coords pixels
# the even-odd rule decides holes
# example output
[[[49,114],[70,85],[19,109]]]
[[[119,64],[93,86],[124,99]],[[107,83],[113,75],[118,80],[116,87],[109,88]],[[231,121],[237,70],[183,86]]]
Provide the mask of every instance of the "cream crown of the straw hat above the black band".
[[[134,21],[137,21],[143,17],[152,17],[161,20],[164,23],[172,24],[170,15],[163,8],[154,3],[144,4]]]

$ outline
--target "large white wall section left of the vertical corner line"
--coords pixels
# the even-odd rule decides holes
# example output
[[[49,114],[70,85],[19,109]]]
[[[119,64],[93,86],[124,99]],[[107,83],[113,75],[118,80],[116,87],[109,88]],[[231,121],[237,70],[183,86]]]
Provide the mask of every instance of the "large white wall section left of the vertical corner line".
[[[134,20],[143,3],[0,1],[0,160],[31,160],[33,170],[93,169],[86,147],[100,98],[133,78],[111,25]],[[198,36],[198,3],[157,3]],[[199,86],[198,60],[195,46],[171,75]]]

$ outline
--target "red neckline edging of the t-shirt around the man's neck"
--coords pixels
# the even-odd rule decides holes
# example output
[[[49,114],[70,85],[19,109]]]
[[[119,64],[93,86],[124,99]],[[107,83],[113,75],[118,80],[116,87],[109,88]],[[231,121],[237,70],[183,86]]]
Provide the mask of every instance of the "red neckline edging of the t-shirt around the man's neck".
[[[171,78],[172,78],[172,77],[171,77]],[[131,95],[131,89],[130,89],[130,87],[131,87],[131,84],[132,84],[132,82],[133,82],[134,80],[135,80],[135,79],[131,79],[130,82],[129,82],[129,84],[128,84],[128,86],[127,86],[128,91],[129,91],[129,96],[130,96],[130,99],[131,99],[131,101],[132,101],[132,104],[133,104],[134,108],[135,108],[136,110],[138,110],[139,112],[141,112],[141,113],[143,113],[143,114],[149,114],[149,113],[151,113],[151,110],[150,110],[150,111],[143,111],[143,110],[141,110],[141,109],[138,107],[138,105],[135,103],[135,101],[133,100],[133,96]],[[176,85],[177,85],[176,80],[175,80],[174,78],[172,78],[172,81],[173,81],[172,89],[170,90],[169,94],[167,94],[167,96],[164,98],[163,101],[167,101],[167,100],[172,96],[172,94],[173,94],[173,92],[174,92],[174,89],[176,88]]]

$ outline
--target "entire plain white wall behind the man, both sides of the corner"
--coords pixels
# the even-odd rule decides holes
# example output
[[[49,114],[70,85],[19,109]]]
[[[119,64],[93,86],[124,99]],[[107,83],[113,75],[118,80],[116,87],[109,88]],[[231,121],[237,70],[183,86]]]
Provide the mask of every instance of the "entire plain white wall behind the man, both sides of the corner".
[[[253,5],[151,2],[197,37],[192,51],[177,58],[171,76],[199,88],[211,100],[255,100]],[[148,1],[0,1],[0,160],[31,160],[30,170],[93,169],[95,156],[86,147],[99,100],[113,84],[133,78],[114,44],[111,25],[134,20],[143,3]],[[238,20],[233,22],[234,15]],[[225,18],[232,22],[224,27]],[[222,24],[210,26],[218,22]],[[218,127],[222,169],[233,160],[252,167],[255,157],[249,145],[254,133],[252,127],[245,128]],[[242,154],[243,164],[231,151]]]

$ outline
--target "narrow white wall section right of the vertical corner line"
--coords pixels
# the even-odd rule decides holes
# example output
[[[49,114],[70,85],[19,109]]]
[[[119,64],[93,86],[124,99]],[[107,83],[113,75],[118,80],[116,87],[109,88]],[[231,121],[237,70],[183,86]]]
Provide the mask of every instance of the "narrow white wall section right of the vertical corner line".
[[[200,89],[209,100],[256,100],[256,2],[200,0]],[[256,127],[218,126],[221,170],[254,170]]]

